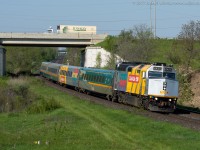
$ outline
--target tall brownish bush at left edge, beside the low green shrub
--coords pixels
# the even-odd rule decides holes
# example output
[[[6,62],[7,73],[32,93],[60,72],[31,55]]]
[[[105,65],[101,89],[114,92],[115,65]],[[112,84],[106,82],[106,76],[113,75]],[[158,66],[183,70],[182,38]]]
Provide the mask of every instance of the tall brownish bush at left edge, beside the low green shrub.
[[[0,112],[22,111],[35,99],[29,90],[29,82],[25,77],[9,79],[0,88]]]

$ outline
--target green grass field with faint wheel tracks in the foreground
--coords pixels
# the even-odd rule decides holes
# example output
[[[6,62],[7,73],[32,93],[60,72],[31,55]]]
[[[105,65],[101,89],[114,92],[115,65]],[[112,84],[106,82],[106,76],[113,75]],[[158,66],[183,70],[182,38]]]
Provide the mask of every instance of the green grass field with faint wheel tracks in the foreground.
[[[198,149],[200,132],[81,100],[35,79],[30,89],[62,107],[0,114],[0,149]],[[40,141],[40,144],[38,144]]]

